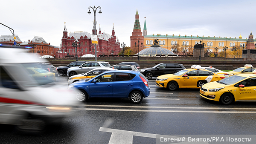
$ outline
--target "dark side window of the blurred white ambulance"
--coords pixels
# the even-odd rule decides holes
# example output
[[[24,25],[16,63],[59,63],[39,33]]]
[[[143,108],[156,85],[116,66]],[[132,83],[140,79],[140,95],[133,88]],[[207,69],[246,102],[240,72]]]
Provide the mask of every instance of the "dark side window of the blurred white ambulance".
[[[12,78],[8,75],[2,66],[0,66],[0,84],[6,88],[19,89],[15,81],[12,80]]]

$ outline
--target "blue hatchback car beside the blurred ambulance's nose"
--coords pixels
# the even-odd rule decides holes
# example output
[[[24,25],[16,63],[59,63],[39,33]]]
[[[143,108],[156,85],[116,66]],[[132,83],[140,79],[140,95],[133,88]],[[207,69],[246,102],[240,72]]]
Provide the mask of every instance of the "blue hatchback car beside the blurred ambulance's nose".
[[[148,79],[139,71],[107,71],[89,81],[69,85],[69,88],[73,87],[80,90],[76,95],[79,101],[88,98],[130,98],[132,103],[138,104],[150,94]]]

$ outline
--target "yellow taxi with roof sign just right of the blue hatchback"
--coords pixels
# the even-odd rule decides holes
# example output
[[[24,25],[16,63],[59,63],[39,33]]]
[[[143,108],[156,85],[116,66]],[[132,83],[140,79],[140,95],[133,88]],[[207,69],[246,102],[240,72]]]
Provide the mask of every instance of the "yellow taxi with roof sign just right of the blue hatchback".
[[[201,88],[206,83],[225,78],[209,70],[202,69],[200,65],[193,65],[191,69],[183,69],[174,74],[160,75],[156,79],[159,87],[175,90],[177,88]]]

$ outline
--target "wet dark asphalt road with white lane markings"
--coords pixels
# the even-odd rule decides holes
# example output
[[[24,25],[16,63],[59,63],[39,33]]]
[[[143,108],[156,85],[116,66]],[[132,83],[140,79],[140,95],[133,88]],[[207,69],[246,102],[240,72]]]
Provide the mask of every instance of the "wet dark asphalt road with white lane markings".
[[[67,86],[67,77],[58,77]],[[155,144],[156,135],[255,135],[255,102],[222,105],[200,97],[199,89],[158,88],[140,104],[95,98],[41,135],[17,135],[1,124],[2,144]]]

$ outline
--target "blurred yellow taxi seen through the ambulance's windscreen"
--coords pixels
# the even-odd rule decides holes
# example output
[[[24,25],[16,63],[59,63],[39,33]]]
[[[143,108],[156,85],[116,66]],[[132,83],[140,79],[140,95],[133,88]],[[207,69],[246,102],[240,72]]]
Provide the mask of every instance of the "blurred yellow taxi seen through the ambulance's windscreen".
[[[38,67],[27,67],[26,70],[29,72],[29,75],[36,80],[46,81],[56,81],[55,73],[48,72],[45,69],[41,69]]]

